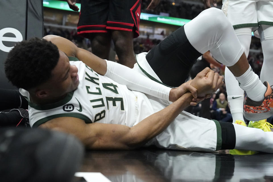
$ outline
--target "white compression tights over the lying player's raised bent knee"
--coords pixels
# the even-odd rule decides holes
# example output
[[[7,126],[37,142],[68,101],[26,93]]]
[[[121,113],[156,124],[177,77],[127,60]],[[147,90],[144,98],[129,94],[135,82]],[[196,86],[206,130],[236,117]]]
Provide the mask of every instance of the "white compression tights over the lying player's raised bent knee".
[[[222,10],[209,8],[185,24],[185,34],[200,53],[210,50],[220,63],[233,66],[243,54],[243,47]]]

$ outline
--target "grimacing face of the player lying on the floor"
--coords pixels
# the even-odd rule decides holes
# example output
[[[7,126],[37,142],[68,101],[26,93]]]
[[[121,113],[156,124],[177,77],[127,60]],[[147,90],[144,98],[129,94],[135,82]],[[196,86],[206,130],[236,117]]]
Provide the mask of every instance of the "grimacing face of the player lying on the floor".
[[[50,84],[53,87],[51,96],[62,96],[73,90],[79,85],[78,68],[70,65],[67,55],[59,50],[60,58],[56,67],[52,70]]]

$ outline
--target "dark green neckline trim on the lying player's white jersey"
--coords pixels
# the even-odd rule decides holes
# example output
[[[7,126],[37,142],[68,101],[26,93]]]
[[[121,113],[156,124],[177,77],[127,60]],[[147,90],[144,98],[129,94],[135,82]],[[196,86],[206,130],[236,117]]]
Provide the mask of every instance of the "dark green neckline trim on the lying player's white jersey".
[[[59,102],[56,102],[56,103],[53,103],[53,104],[38,105],[38,104],[34,104],[32,102],[28,102],[28,105],[30,107],[33,107],[34,109],[37,109],[37,110],[40,110],[40,111],[54,109],[56,107],[63,106],[67,102],[69,102],[72,99],[73,94],[74,94],[74,91],[69,92],[67,94],[67,96],[63,100],[60,100]]]

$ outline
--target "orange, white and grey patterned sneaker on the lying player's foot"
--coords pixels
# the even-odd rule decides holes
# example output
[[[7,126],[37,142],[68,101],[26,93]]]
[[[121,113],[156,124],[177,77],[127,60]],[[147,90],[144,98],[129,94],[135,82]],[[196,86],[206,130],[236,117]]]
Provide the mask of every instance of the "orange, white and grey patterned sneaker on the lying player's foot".
[[[264,82],[266,92],[264,100],[256,102],[246,96],[244,116],[249,121],[260,121],[273,115],[273,92],[268,82]]]

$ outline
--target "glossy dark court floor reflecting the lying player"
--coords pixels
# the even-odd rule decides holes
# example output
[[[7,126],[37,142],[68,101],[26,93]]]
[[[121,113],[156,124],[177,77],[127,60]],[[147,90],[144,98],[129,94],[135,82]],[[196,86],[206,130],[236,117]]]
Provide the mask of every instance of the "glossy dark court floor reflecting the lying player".
[[[112,182],[269,182],[273,181],[273,154],[237,150],[192,152],[154,148],[87,151],[80,171],[100,172]],[[75,181],[88,180],[77,177]]]

